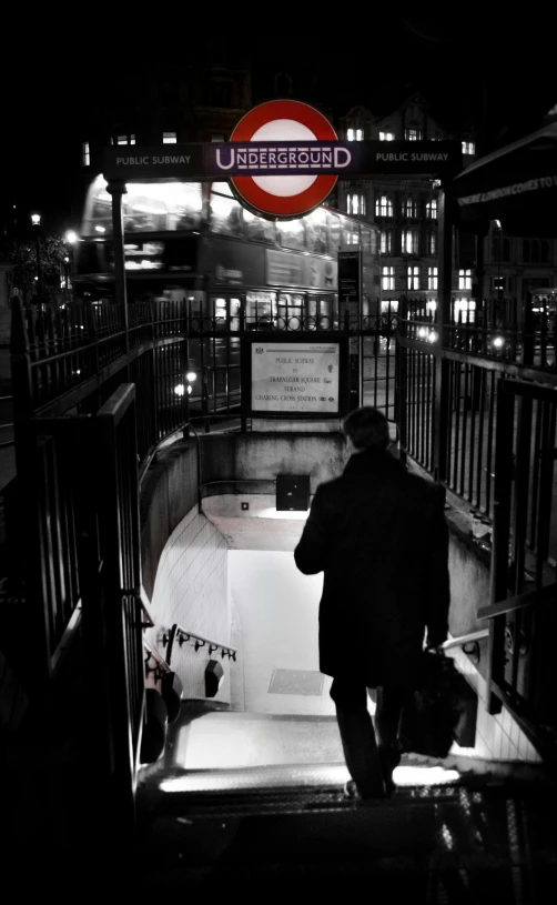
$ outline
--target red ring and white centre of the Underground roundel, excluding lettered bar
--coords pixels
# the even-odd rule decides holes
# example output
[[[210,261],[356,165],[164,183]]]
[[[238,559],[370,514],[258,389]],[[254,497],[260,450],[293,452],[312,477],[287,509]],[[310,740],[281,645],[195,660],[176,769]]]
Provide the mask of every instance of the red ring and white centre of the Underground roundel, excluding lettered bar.
[[[301,101],[269,101],[243,117],[230,137],[234,142],[336,141],[328,120]],[[310,148],[306,149],[310,152]],[[264,217],[291,219],[317,208],[333,189],[336,175],[234,175],[230,180],[249,208]]]

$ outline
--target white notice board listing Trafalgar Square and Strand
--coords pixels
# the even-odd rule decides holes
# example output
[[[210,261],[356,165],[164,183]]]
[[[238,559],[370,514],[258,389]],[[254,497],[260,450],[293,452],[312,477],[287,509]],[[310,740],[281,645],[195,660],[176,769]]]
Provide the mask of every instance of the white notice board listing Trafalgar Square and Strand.
[[[337,414],[340,343],[252,342],[252,412]]]

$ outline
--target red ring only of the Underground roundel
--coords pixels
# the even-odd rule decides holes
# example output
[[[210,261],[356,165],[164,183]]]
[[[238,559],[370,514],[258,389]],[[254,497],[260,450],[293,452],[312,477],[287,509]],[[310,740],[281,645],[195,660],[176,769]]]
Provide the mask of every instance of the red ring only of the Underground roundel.
[[[296,120],[315,135],[316,141],[336,141],[337,135],[328,120],[315,108],[302,101],[269,101],[250,110],[232,132],[231,141],[251,141],[252,135],[273,120]],[[275,195],[261,189],[252,177],[231,177],[231,182],[242,198],[253,208],[275,217],[295,217],[317,208],[333,189],[336,175],[318,175],[315,182],[300,194]]]

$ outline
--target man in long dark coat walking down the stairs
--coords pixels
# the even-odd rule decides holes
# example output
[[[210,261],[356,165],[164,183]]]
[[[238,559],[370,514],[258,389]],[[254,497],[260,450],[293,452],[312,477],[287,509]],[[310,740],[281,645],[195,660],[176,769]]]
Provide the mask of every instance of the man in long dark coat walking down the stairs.
[[[392,455],[382,412],[357,409],[343,426],[354,453],[317,487],[294,559],[305,575],[324,572],[320,670],[333,676],[345,794],[372,798],[394,791],[398,722],[424,641],[447,637],[448,531],[444,489]],[[377,688],[377,741],[366,688]]]

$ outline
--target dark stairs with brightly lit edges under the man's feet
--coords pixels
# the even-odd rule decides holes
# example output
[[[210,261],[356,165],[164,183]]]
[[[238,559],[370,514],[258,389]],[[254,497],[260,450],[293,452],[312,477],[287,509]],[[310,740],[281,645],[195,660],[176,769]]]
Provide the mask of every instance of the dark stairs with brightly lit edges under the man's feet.
[[[251,718],[215,716],[223,726]],[[226,744],[224,734],[221,752]],[[352,802],[342,794],[342,758],[184,770],[172,748],[171,741],[170,756],[145,772],[138,792],[135,873],[143,895],[553,901],[556,790],[541,771],[458,774],[439,765],[432,774],[425,758],[407,756],[393,798]]]

